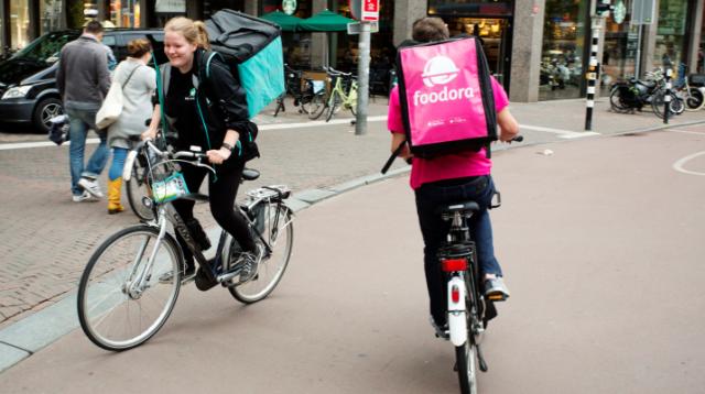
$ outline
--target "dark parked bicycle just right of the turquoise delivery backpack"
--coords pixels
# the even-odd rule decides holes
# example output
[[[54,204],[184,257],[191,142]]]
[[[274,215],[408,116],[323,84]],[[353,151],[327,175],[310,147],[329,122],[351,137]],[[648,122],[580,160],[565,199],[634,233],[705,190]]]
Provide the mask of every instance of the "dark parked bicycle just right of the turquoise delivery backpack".
[[[325,109],[325,84],[323,80],[304,78],[304,72],[295,70],[284,64],[286,91],[276,99],[274,117],[280,111],[286,111],[284,99],[286,96],[294,98],[294,107],[299,107],[299,113],[306,113],[310,119],[318,119]],[[304,88],[301,87],[302,81]]]

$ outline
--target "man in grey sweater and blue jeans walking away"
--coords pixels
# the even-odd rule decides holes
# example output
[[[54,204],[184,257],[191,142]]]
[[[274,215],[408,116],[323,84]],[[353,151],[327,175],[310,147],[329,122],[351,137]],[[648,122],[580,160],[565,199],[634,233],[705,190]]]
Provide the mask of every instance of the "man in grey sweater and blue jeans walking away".
[[[61,52],[56,85],[69,118],[70,190],[73,200],[80,203],[90,197],[102,198],[98,176],[110,154],[107,133],[96,130],[96,112],[110,88],[110,74],[106,50],[100,43],[104,29],[100,22],[90,21],[77,40],[66,44]],[[84,165],[86,135],[95,130],[100,138],[98,147]]]

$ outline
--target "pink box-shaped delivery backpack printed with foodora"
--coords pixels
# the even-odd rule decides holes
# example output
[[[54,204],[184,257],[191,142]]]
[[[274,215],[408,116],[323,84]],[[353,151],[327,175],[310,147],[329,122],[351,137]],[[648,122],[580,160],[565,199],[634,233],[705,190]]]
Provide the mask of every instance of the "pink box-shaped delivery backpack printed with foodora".
[[[432,158],[482,146],[489,155],[489,144],[497,140],[497,113],[479,40],[465,36],[401,47],[397,69],[406,143],[414,156]]]

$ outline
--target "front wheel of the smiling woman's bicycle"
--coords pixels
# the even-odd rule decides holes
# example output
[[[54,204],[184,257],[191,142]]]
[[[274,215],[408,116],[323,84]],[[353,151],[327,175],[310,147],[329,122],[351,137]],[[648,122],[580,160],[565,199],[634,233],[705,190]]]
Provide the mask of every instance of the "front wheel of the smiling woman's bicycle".
[[[181,253],[173,238],[158,238],[159,229],[130,227],[90,256],[78,285],[78,320],[100,348],[140,346],[172,313],[181,287]]]

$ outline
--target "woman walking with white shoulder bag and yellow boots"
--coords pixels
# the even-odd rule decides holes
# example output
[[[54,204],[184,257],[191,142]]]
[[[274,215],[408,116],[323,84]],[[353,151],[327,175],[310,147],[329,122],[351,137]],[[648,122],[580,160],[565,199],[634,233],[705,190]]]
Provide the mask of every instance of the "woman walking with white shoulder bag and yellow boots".
[[[108,128],[108,145],[112,147],[112,164],[108,171],[108,214],[124,210],[120,204],[122,167],[130,136],[144,131],[144,120],[152,117],[152,95],[156,89],[156,73],[148,67],[152,45],[145,39],[128,43],[128,58],[115,69],[112,83],[122,88],[122,111]],[[115,88],[115,87],[113,87]]]

